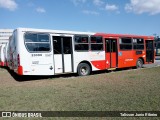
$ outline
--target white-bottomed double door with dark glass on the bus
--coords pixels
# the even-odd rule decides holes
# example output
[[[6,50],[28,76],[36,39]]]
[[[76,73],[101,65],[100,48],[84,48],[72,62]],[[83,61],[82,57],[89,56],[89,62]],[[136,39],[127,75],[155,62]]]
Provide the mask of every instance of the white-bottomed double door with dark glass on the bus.
[[[72,37],[53,36],[55,74],[73,72]]]

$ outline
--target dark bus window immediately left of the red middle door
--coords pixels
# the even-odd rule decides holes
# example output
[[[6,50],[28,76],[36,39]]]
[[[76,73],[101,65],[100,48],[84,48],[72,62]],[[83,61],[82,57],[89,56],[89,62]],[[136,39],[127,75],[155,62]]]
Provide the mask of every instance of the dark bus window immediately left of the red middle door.
[[[101,36],[91,36],[91,50],[103,50],[103,40]]]

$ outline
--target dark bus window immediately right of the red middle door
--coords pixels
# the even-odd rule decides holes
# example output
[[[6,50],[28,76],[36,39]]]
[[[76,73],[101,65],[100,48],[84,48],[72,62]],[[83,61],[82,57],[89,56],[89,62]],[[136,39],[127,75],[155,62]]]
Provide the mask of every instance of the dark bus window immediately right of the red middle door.
[[[119,44],[120,44],[120,50],[132,50],[131,38],[120,38]]]

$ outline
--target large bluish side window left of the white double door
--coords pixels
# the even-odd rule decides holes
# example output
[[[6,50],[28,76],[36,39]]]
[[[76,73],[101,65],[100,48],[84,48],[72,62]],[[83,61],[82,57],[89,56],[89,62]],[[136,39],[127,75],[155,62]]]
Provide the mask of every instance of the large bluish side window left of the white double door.
[[[40,33],[26,33],[25,46],[29,52],[50,51],[49,35]]]

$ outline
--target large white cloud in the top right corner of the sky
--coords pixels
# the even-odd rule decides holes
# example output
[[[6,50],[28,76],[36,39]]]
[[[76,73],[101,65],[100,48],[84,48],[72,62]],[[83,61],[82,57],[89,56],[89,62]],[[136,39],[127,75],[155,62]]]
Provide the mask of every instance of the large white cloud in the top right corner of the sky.
[[[160,13],[160,0],[130,0],[130,3],[125,5],[125,10],[136,14],[155,15]]]

